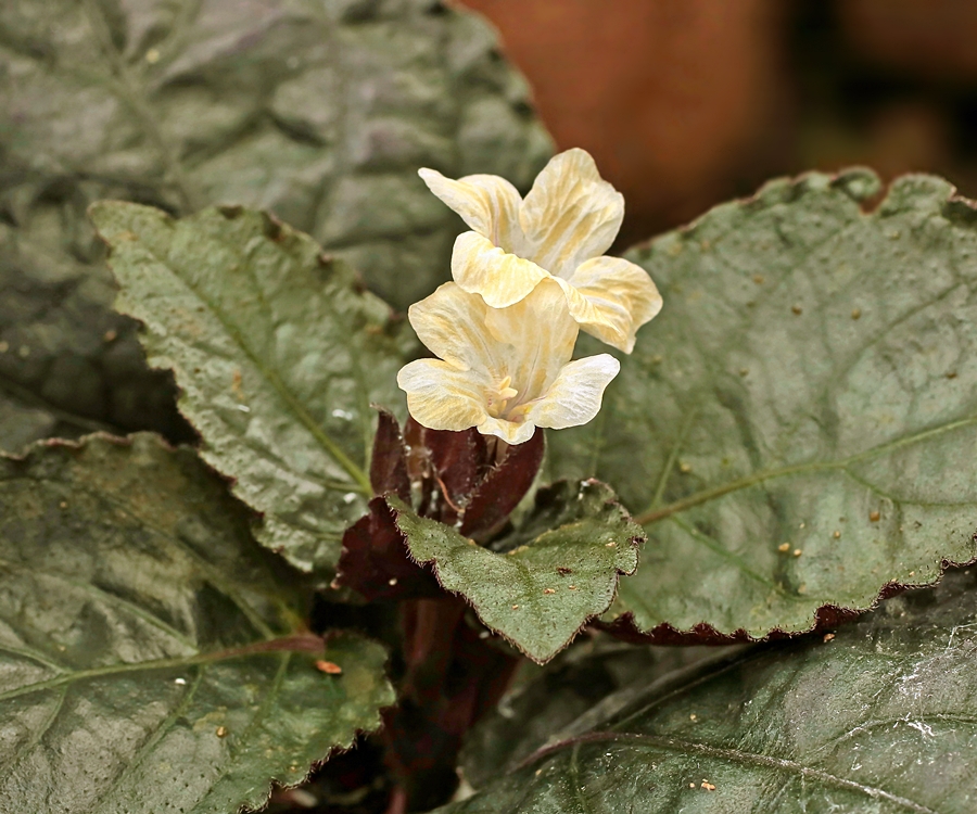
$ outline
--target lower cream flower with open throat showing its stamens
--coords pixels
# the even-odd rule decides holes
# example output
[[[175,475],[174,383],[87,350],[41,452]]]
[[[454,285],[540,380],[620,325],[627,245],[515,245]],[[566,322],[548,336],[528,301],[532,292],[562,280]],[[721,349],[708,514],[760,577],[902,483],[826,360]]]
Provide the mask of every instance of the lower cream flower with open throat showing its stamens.
[[[584,424],[621,367],[608,354],[570,361],[579,329],[551,280],[508,308],[491,308],[448,282],[408,316],[441,358],[411,361],[397,384],[410,415],[432,430],[477,427],[521,444],[536,427]]]

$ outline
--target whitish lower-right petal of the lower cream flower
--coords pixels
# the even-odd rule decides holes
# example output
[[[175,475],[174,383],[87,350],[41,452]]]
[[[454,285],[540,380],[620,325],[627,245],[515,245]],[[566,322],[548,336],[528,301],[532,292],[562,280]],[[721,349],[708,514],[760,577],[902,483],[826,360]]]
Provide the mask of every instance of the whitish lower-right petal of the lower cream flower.
[[[587,423],[597,415],[604,390],[620,369],[621,363],[610,354],[571,361],[549,392],[526,410],[525,420],[554,430]]]

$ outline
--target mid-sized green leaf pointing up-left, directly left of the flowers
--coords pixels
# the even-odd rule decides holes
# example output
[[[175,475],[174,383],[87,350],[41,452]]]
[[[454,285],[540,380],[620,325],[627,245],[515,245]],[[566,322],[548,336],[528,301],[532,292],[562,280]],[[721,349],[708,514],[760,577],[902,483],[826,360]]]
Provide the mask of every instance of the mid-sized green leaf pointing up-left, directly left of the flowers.
[[[371,403],[399,407],[404,322],[261,213],[173,220],[92,206],[112,247],[116,308],[142,320],[150,365],[172,368],[202,457],[264,513],[258,540],[304,570],[330,569],[370,494]]]

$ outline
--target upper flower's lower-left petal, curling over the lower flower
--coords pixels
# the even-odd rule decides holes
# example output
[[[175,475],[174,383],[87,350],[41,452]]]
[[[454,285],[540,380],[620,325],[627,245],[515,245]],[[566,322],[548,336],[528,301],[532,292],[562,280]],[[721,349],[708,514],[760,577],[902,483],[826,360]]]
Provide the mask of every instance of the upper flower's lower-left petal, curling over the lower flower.
[[[506,308],[528,296],[549,274],[478,232],[462,232],[452,252],[452,277],[459,288],[480,294],[493,308]]]

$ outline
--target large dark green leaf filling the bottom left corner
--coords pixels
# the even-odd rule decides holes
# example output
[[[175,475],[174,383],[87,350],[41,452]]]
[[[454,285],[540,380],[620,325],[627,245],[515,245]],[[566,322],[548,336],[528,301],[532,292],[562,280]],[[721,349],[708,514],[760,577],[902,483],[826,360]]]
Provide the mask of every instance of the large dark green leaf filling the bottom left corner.
[[[0,810],[227,814],[379,725],[383,650],[304,633],[246,513],[152,435],[0,458]]]

